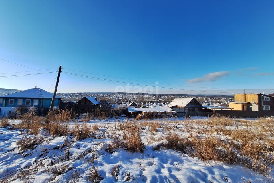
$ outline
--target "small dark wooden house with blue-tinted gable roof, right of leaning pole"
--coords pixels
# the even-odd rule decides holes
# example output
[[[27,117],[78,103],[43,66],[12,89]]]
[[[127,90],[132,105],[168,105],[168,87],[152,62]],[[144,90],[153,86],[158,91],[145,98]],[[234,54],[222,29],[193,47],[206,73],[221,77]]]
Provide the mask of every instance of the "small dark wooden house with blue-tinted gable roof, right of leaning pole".
[[[75,104],[75,111],[77,113],[86,113],[92,112],[92,110],[96,110],[97,108],[100,107],[100,102],[97,100],[95,97],[84,97]]]

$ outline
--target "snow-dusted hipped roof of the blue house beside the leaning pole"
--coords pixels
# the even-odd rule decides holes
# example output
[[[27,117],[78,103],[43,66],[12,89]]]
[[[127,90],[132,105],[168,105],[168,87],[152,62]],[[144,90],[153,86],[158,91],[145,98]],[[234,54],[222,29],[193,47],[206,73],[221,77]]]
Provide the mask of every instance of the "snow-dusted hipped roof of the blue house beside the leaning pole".
[[[31,88],[20,92],[15,92],[12,94],[3,95],[0,97],[10,97],[10,98],[52,98],[53,93],[47,92],[41,88]],[[56,95],[55,98],[61,98]]]

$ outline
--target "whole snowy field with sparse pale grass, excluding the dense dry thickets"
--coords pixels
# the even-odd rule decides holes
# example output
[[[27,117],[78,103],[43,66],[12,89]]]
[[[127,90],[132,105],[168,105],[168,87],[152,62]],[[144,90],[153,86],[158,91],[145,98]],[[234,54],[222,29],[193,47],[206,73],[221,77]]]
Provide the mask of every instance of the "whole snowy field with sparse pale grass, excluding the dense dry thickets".
[[[221,140],[228,139],[227,132],[237,129],[253,130],[264,134],[267,142],[273,140],[270,130],[273,126],[267,121],[235,118],[229,119],[228,124],[213,124],[210,120],[120,118],[70,122],[71,129],[88,125],[93,129],[92,138],[76,140],[75,136],[52,136],[41,128],[37,135],[29,135],[36,141],[25,149],[18,141],[26,138],[26,130],[3,126],[0,128],[0,179],[2,182],[273,182],[272,164],[264,174],[242,164],[203,161],[170,148],[155,150],[156,145],[166,142],[169,134],[176,133],[182,138],[190,134],[204,137],[205,128],[214,129],[212,135]],[[21,120],[9,122],[20,124]],[[123,147],[109,150],[113,139],[123,136],[124,126],[133,124],[139,127],[144,151],[130,152]],[[268,153],[273,158],[274,152]]]

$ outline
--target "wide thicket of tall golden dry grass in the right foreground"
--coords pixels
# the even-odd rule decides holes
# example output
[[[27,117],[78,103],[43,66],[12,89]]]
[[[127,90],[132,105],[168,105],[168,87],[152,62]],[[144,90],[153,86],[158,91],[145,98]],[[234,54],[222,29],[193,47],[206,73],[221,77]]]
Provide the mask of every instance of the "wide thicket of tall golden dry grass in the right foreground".
[[[226,141],[213,136],[213,130],[204,130],[204,137],[190,134],[188,138],[182,138],[176,133],[169,133],[166,142],[158,144],[153,150],[164,147],[184,152],[192,157],[196,156],[204,161],[243,164],[262,174],[267,174],[271,170],[269,165],[273,162],[273,157],[269,156],[269,152],[273,151],[273,141],[269,141],[267,146],[261,142],[263,135],[248,130],[223,130],[222,133],[229,136]],[[237,144],[235,141],[240,143]]]

